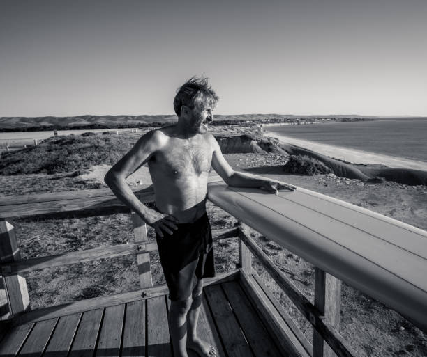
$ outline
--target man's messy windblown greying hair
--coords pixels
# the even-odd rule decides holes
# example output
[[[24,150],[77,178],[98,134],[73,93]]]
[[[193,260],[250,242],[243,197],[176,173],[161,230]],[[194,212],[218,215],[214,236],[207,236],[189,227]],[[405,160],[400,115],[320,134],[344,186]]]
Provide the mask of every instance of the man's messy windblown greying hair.
[[[209,86],[206,77],[191,77],[177,89],[174,98],[174,110],[177,116],[181,115],[181,106],[186,105],[193,109],[207,102],[210,106],[216,106],[219,97]]]

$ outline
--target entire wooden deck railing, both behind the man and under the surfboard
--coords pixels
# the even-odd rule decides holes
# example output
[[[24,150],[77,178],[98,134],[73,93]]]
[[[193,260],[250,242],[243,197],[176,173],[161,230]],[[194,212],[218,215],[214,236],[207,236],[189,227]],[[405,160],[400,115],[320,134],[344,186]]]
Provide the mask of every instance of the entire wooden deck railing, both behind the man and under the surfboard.
[[[142,203],[153,201],[151,187],[135,189],[135,195]],[[66,264],[90,262],[98,259],[136,255],[140,287],[152,287],[151,264],[149,252],[156,251],[156,243],[148,241],[145,223],[137,214],[130,213],[133,222],[133,242],[116,246],[92,248],[85,251],[62,253],[45,257],[22,260],[18,248],[17,237],[11,218],[38,215],[47,216],[96,216],[112,212],[129,212],[115,198],[109,189],[87,191],[68,191],[61,193],[44,193],[33,196],[15,196],[2,198],[0,203],[0,319],[12,319],[29,310],[29,294],[26,280],[21,275],[27,271],[60,267]],[[237,221],[237,227],[213,231],[214,240],[227,237],[239,237],[239,268],[241,284],[255,301],[255,308],[260,312],[267,325],[276,333],[278,343],[292,347],[295,356],[358,356],[339,333],[340,317],[340,280],[329,275],[322,269],[315,269],[315,303],[294,287],[292,282],[276,267],[269,257],[257,246],[248,235],[245,225]],[[267,237],[268,238],[268,237]],[[285,310],[263,287],[260,277],[253,269],[253,256],[276,281],[283,292],[292,300],[314,328],[313,345],[292,322]],[[263,290],[260,292],[260,287]],[[265,299],[264,296],[269,296]],[[261,303],[257,303],[261,302]],[[271,314],[271,304],[279,315]],[[269,308],[270,306],[270,308]],[[285,321],[285,324],[283,324]],[[281,337],[281,338],[280,338]],[[294,341],[283,342],[284,338]],[[324,344],[324,341],[327,344]]]

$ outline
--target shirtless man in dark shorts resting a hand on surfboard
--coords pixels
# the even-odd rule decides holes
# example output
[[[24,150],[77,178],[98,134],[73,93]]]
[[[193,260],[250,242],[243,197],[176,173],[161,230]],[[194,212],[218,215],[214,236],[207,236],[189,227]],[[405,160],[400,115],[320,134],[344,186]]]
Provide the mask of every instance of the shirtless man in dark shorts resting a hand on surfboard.
[[[211,167],[230,186],[262,187],[271,193],[292,189],[235,172],[209,134],[218,96],[207,79],[188,80],[174,98],[178,122],[147,134],[105,175],[105,183],[130,209],[156,230],[160,262],[170,290],[168,315],[175,357],[187,348],[214,357],[216,350],[197,337],[203,278],[214,275],[207,181]],[[148,163],[156,209],[137,199],[126,178]]]

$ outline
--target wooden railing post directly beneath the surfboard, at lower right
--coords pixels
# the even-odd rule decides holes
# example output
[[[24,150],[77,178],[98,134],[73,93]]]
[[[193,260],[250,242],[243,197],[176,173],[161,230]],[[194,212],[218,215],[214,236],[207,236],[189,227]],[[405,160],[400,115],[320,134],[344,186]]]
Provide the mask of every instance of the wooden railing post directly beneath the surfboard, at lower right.
[[[341,280],[315,267],[315,307],[339,331],[341,308]],[[320,333],[313,333],[313,357],[335,357]]]

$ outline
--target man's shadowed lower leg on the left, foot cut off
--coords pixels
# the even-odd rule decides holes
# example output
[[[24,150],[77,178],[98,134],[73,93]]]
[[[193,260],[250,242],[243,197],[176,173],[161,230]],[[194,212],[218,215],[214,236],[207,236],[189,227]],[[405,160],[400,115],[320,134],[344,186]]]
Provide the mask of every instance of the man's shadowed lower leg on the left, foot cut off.
[[[183,301],[171,301],[167,319],[170,338],[174,347],[174,357],[188,357],[187,354],[187,314],[191,306],[191,297]]]

